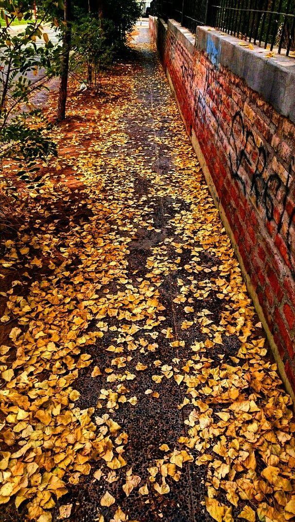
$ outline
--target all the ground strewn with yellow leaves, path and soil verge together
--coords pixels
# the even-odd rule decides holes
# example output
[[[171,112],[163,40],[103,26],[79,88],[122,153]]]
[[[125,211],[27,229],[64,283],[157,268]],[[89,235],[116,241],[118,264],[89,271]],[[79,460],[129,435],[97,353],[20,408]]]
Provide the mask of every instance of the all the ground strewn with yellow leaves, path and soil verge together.
[[[0,519],[292,520],[291,400],[155,50],[134,53],[105,98],[73,93],[5,239]]]

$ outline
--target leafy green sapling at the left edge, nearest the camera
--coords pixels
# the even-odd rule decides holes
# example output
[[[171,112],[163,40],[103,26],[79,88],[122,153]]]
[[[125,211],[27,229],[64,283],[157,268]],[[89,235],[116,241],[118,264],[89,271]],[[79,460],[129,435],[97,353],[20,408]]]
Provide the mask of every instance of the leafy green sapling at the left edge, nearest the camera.
[[[44,88],[46,75],[55,74],[54,47],[42,29],[44,21],[52,20],[51,6],[52,2],[43,2],[39,17],[32,20],[29,2],[13,5],[9,0],[2,1],[0,13],[6,23],[0,29],[0,162],[7,185],[5,159],[19,161],[17,174],[32,183],[40,181],[36,160],[56,154],[55,145],[43,133],[47,127],[44,118],[30,105],[31,94]],[[22,18],[27,26],[17,34],[11,32],[14,20]],[[40,39],[43,45],[37,45]]]

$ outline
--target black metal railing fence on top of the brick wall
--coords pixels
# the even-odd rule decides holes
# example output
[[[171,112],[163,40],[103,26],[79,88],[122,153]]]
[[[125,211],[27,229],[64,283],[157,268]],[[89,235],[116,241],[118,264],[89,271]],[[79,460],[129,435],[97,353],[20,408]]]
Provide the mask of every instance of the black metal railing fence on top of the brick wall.
[[[295,50],[295,0],[154,0],[151,12],[191,32],[208,25],[265,49]]]

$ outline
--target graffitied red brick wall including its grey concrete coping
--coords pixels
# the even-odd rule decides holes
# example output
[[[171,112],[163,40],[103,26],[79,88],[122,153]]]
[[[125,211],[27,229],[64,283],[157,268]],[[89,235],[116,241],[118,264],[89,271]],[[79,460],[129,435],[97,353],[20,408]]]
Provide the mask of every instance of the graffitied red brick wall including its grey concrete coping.
[[[197,29],[196,45],[174,21],[150,17],[150,28],[295,391],[295,60],[268,58],[207,28]]]

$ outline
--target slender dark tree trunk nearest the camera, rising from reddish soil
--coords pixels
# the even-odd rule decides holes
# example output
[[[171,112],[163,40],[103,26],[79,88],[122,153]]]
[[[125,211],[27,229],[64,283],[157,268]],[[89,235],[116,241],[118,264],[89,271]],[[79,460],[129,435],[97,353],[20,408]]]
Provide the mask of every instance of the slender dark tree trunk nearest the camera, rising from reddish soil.
[[[70,3],[71,0],[65,0],[65,22],[66,29],[63,40],[63,55],[62,55],[62,73],[60,78],[60,90],[58,93],[58,107],[57,107],[57,121],[61,122],[66,117],[66,101],[67,101],[67,82],[68,82],[68,62],[69,62],[69,51],[70,51],[70,40],[71,40],[71,27],[70,27]]]

